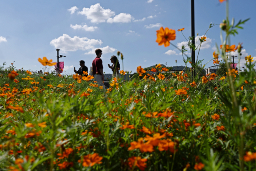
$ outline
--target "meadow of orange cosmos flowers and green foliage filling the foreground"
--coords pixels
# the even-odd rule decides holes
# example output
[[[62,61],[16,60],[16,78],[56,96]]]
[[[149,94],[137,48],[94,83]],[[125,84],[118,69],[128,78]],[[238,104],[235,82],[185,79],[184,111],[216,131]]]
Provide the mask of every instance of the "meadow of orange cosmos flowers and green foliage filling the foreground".
[[[228,1],[220,1],[228,8]],[[238,71],[227,58],[228,52],[241,51],[230,37],[246,21],[234,23],[227,16],[218,25],[223,41],[212,51],[211,63],[223,60],[222,75],[202,74],[200,59],[187,67],[191,57],[185,51],[200,50],[206,37],[197,46],[190,37],[190,49],[179,49],[184,71],[138,66],[127,81],[123,69],[106,89],[90,75],[35,74],[15,63],[5,67],[0,72],[0,170],[255,171],[255,61],[239,56],[246,68]],[[159,28],[156,42],[172,46],[184,29]],[[47,57],[38,64],[55,65]]]

